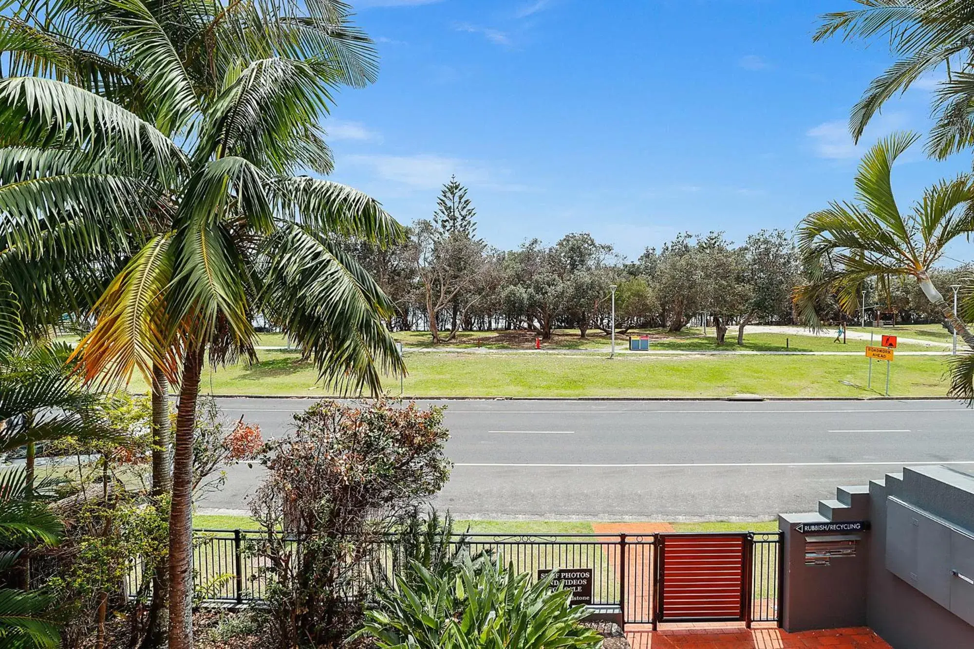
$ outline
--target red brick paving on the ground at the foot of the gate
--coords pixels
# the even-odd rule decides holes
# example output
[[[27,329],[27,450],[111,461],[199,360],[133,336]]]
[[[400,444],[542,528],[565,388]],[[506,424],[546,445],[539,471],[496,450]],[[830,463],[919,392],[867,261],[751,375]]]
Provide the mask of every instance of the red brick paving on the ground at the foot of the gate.
[[[676,628],[635,630],[625,637],[632,649],[890,649],[879,635],[865,627],[786,633],[780,629]]]

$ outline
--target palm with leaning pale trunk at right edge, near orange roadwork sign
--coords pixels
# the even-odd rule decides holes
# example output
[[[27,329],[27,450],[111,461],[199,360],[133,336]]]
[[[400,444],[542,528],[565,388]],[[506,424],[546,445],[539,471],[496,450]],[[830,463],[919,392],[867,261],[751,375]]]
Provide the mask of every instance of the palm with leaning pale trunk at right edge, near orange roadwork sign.
[[[819,326],[815,304],[835,294],[845,313],[858,309],[861,286],[876,278],[887,294],[894,278],[912,278],[930,303],[974,351],[974,333],[930,281],[929,270],[958,237],[974,231],[974,178],[961,173],[923,193],[903,213],[893,197],[890,172],[895,160],[918,139],[892,134],[863,157],[855,174],[856,202],[832,203],[807,216],[798,228],[798,245],[810,282],[795,289],[795,302],[808,325]],[[957,357],[951,394],[974,396],[966,367],[974,356]],[[966,372],[966,373],[965,373]]]

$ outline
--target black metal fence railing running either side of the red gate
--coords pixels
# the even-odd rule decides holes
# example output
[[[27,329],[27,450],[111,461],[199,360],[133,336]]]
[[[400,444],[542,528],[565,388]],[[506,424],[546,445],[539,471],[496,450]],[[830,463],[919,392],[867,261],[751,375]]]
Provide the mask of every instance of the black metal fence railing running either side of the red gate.
[[[194,530],[194,578],[198,592],[212,602],[246,604],[264,597],[266,559],[250,550],[266,532],[254,530]],[[369,561],[392,570],[395,536],[378,543]],[[654,624],[656,597],[656,534],[475,534],[457,535],[454,543],[471,555],[487,551],[518,572],[533,578],[539,571],[591,570],[588,602],[593,613],[618,618],[623,624]],[[461,539],[463,539],[461,541]],[[781,597],[781,536],[778,532],[747,535],[751,544],[750,613],[747,622],[779,622]],[[291,543],[298,543],[291,541]],[[358,574],[367,580],[371,566]],[[140,566],[129,575],[127,588],[137,592],[143,580]],[[363,584],[364,585],[364,584]]]

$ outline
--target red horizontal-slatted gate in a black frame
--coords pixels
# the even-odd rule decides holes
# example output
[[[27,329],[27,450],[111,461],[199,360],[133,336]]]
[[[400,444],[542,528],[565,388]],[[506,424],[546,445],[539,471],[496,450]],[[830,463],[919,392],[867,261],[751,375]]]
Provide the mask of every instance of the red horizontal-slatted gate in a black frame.
[[[749,622],[747,534],[660,534],[657,622]]]

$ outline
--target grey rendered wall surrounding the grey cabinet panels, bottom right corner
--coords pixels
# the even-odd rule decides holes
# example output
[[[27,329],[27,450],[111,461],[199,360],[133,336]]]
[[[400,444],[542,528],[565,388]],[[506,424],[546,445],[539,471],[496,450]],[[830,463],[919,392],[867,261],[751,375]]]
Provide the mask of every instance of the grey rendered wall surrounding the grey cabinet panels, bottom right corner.
[[[974,478],[944,467],[905,468],[869,485],[873,529],[867,624],[894,649],[970,649],[974,627],[886,569],[886,497],[974,530]]]

